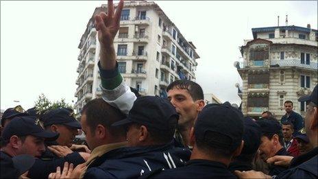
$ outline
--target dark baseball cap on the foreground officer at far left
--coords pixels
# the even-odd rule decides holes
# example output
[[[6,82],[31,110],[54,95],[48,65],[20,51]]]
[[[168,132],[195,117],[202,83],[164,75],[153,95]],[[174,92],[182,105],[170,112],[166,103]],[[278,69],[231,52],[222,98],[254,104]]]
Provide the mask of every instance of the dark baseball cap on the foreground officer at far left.
[[[45,138],[47,141],[55,141],[58,139],[59,134],[56,132],[49,132],[43,130],[36,117],[14,117],[8,126],[5,126],[2,132],[3,140],[10,139],[11,136],[38,136]]]

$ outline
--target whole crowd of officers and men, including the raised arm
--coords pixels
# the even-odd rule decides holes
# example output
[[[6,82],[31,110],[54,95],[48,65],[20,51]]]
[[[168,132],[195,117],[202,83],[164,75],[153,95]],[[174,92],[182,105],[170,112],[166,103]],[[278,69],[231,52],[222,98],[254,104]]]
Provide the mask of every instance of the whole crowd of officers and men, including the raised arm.
[[[69,108],[5,110],[0,178],[317,178],[317,85],[299,99],[305,119],[286,101],[280,122],[269,111],[256,120],[229,102],[205,104],[190,80],[171,82],[167,99],[141,96],[114,51],[122,9],[110,0],[95,16],[102,98],[80,122]],[[79,131],[86,145],[73,143]]]

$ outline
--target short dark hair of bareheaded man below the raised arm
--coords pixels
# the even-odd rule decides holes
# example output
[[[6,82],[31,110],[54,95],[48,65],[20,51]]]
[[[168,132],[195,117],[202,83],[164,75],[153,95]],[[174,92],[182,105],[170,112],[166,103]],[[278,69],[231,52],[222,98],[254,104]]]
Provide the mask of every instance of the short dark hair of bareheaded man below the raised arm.
[[[103,99],[97,98],[88,102],[82,110],[82,115],[86,115],[86,123],[91,131],[94,131],[100,124],[110,131],[114,137],[125,136],[125,127],[111,126],[112,123],[125,119],[126,116],[119,109],[110,106]]]

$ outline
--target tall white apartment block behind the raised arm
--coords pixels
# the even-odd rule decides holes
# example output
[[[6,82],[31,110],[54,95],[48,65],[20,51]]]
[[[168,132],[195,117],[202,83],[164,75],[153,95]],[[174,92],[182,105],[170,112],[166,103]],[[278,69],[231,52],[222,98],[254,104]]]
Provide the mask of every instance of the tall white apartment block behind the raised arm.
[[[97,67],[100,46],[93,17],[106,12],[106,8],[107,5],[101,5],[95,9],[78,46],[81,50],[75,92],[77,111],[90,99],[101,97]],[[156,3],[125,1],[120,25],[114,48],[119,71],[128,86],[136,88],[141,95],[166,97],[169,83],[179,79],[195,81],[199,58],[196,47],[182,36]]]

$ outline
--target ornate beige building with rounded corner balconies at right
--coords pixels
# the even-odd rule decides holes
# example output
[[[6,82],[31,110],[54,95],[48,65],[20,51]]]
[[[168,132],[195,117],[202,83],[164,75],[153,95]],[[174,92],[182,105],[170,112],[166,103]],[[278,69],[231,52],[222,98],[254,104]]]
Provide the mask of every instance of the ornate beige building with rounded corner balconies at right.
[[[284,102],[291,100],[304,116],[306,103],[299,97],[310,94],[317,84],[317,29],[294,25],[253,28],[253,40],[244,40],[243,62],[236,68],[243,80],[238,89],[244,115],[260,116],[269,110],[280,119]]]

